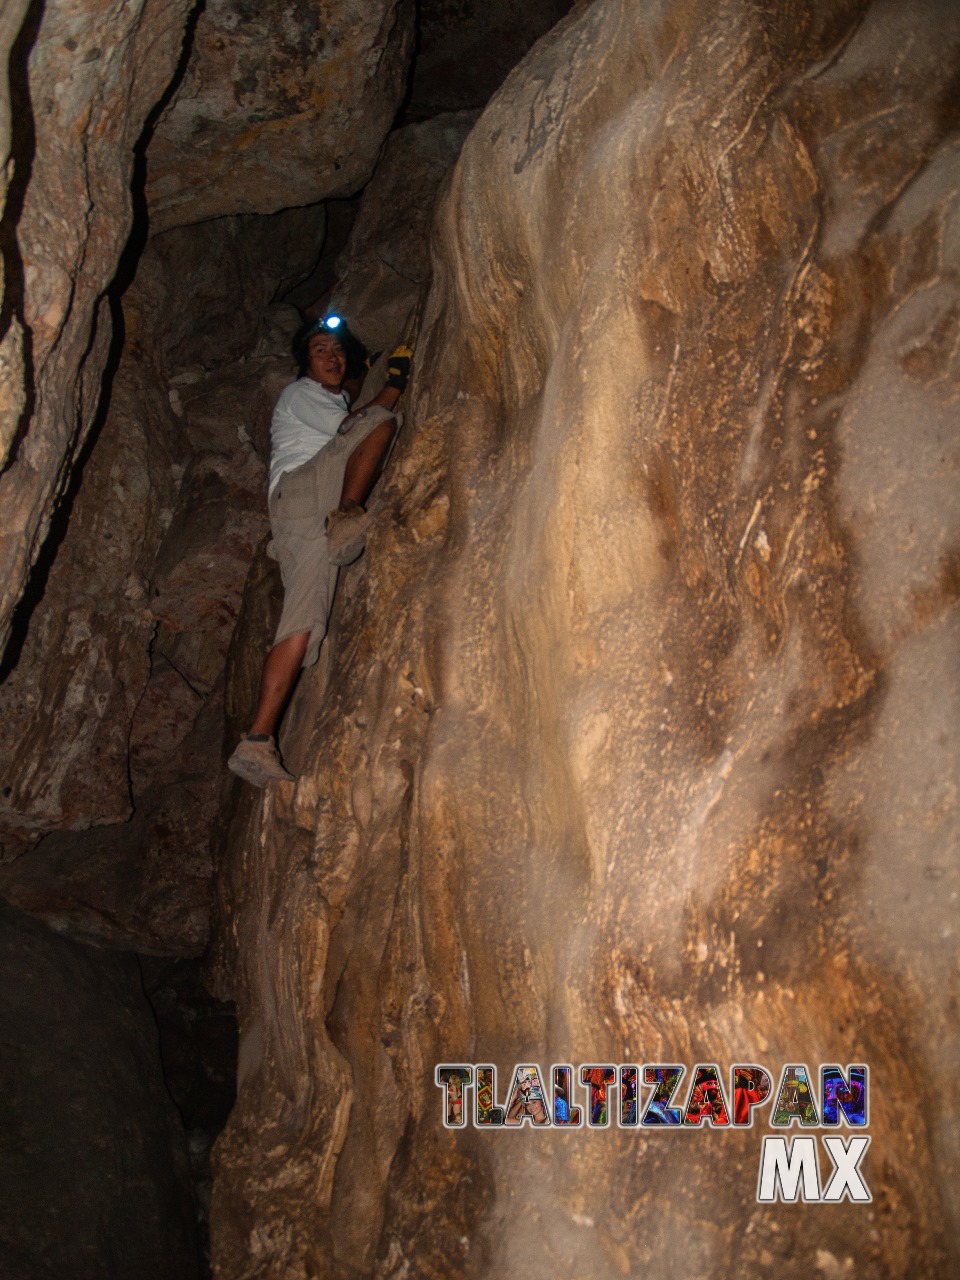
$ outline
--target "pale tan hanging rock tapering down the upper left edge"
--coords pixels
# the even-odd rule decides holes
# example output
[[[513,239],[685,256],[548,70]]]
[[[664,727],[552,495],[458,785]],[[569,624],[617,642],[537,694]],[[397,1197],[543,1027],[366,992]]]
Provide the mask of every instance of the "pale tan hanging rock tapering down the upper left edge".
[[[111,330],[102,297],[131,228],[133,148],[177,67],[189,8],[191,0],[50,0],[31,10],[42,13],[38,33],[31,26],[14,46],[0,648],[93,420]],[[8,37],[17,9],[4,10]]]

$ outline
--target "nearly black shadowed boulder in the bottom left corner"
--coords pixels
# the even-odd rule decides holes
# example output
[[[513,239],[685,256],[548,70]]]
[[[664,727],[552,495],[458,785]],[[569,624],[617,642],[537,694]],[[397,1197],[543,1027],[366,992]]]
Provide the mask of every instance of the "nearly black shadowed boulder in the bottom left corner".
[[[0,904],[0,1265],[200,1275],[184,1133],[138,965]]]

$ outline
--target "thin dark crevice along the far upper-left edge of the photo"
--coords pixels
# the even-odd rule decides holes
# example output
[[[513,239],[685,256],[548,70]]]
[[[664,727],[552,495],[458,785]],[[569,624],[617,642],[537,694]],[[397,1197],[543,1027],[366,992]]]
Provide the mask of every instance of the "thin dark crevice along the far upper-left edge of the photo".
[[[23,26],[10,49],[10,63],[8,68],[10,83],[10,159],[13,161],[13,178],[6,192],[6,206],[3,220],[0,220],[0,253],[4,259],[4,297],[0,305],[0,340],[3,340],[17,319],[23,330],[23,372],[26,401],[17,422],[10,452],[0,467],[0,476],[5,475],[19,457],[20,445],[27,435],[27,428],[33,417],[36,407],[36,392],[33,389],[33,342],[32,333],[27,328],[23,317],[23,305],[26,300],[26,287],[23,282],[23,257],[17,239],[17,227],[23,214],[23,205],[27,198],[27,187],[33,172],[33,156],[37,151],[37,131],[33,119],[33,102],[29,96],[28,60],[31,50],[40,33],[40,23],[44,18],[44,0],[33,0],[27,9]]]

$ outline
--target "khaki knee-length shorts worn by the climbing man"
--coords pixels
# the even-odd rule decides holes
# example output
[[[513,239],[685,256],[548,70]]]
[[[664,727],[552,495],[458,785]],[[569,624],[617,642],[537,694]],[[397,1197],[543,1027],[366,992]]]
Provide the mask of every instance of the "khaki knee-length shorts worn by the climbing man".
[[[273,543],[268,553],[279,561],[283,577],[283,612],[274,644],[308,631],[305,667],[320,654],[337,589],[338,570],[326,554],[324,521],[340,500],[351,453],[389,419],[398,426],[403,421],[401,413],[379,404],[344,419],[337,435],[310,462],[284,471],[270,494]]]

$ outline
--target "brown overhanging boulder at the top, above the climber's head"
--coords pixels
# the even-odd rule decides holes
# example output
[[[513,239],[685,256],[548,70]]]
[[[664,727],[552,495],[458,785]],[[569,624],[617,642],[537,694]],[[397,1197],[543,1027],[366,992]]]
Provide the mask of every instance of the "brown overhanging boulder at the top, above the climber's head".
[[[210,0],[150,145],[155,230],[353,195],[403,96],[408,0]]]

